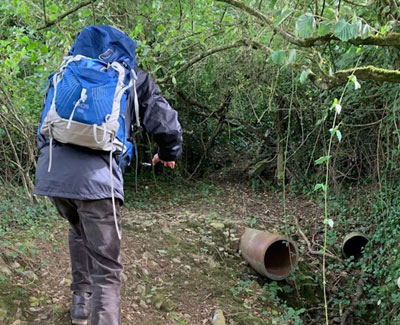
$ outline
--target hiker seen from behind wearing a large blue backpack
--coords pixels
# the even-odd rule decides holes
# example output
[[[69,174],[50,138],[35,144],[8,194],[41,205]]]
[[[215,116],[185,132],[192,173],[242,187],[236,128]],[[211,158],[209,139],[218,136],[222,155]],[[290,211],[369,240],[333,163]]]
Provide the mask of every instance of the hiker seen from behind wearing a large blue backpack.
[[[112,44],[112,47],[96,54],[100,48],[107,48],[98,44],[101,42]],[[118,47],[118,42],[125,43]],[[59,214],[70,224],[72,324],[87,324],[90,313],[92,325],[121,323],[120,207],[124,202],[122,174],[133,152],[129,150],[132,126],[141,123],[146,132],[154,135],[159,149],[152,159],[153,165],[162,163],[173,169],[182,153],[182,131],[177,112],[160,95],[151,77],[137,67],[134,61],[136,44],[132,42],[127,35],[110,26],[85,28],[78,35],[63,67],[51,76],[44,100],[38,130],[40,155],[34,193],[49,197]],[[89,60],[86,56],[96,60]],[[111,63],[121,57],[122,64]],[[90,69],[93,67],[97,70],[92,72]],[[70,71],[73,73],[69,74]],[[71,85],[78,84],[74,78],[79,79],[80,71],[83,71],[82,79],[86,80],[80,81],[81,86],[77,86],[75,91]],[[98,82],[95,79],[101,73],[111,76],[110,80],[114,80],[116,75],[117,86],[107,85],[104,92],[91,91],[89,86],[85,86],[85,82]],[[94,81],[91,81],[92,77]],[[113,97],[117,91],[111,91],[111,98],[106,91],[115,89],[121,81],[125,88],[116,97],[120,100],[117,107]],[[77,94],[75,99],[63,95],[72,96],[70,94],[74,91]],[[94,95],[105,97],[99,100]],[[105,116],[102,126],[90,125],[87,139],[92,136],[95,141],[87,145],[68,132],[86,123],[78,118],[89,116],[87,112],[95,107],[96,100],[99,107],[106,106],[110,100],[112,113]],[[117,115],[114,114],[116,107],[119,109]],[[69,110],[66,118],[51,120],[52,114],[62,115],[64,109]],[[118,132],[112,133],[109,123],[114,115],[120,123],[117,124]],[[61,122],[64,124],[57,126]],[[105,142],[109,134],[112,143]],[[93,149],[97,144],[105,150]]]

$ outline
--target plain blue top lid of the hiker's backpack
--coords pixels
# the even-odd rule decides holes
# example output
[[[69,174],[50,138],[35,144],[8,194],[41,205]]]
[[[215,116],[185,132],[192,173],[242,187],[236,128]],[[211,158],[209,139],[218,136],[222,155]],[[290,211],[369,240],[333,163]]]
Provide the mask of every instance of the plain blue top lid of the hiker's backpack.
[[[136,42],[120,30],[106,25],[82,29],[69,50],[70,55],[84,55],[103,62],[120,62],[135,66]]]

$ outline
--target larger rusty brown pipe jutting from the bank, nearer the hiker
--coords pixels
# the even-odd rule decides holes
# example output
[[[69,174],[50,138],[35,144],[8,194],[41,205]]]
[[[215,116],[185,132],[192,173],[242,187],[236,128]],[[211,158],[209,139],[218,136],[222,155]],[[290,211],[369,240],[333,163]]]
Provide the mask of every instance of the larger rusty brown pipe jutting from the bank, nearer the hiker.
[[[242,256],[261,275],[283,280],[297,265],[296,244],[283,235],[246,228],[240,239]]]

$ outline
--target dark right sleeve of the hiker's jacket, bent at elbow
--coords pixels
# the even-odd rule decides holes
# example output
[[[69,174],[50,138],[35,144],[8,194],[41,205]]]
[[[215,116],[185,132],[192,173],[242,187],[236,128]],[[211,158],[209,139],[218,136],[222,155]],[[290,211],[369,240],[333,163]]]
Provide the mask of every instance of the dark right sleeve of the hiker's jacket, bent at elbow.
[[[135,70],[141,123],[146,132],[154,135],[160,159],[175,161],[182,155],[182,128],[178,113],[161,96],[149,74]]]

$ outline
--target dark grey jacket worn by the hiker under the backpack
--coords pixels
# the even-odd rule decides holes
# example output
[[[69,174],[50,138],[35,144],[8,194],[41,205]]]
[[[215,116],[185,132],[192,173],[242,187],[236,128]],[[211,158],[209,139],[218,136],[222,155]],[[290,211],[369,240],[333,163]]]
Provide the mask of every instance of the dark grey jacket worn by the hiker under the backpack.
[[[145,131],[154,135],[159,157],[175,161],[182,154],[182,130],[178,113],[160,95],[151,77],[135,69],[138,77],[139,115]],[[128,123],[134,122],[133,103],[128,106]],[[85,147],[53,142],[53,162],[49,164],[49,139],[38,137],[40,155],[37,163],[35,189],[37,195],[78,200],[97,200],[111,197],[109,153]],[[122,171],[113,159],[114,194],[124,200]]]

